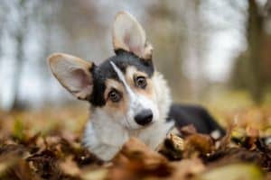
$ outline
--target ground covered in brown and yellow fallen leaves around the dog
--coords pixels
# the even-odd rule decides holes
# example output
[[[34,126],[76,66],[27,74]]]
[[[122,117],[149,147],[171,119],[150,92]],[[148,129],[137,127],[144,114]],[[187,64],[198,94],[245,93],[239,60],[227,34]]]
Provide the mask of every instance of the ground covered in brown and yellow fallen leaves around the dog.
[[[0,112],[0,179],[271,179],[271,107],[223,114],[222,139],[187,126],[155,152],[132,138],[110,163],[80,146],[82,112]]]

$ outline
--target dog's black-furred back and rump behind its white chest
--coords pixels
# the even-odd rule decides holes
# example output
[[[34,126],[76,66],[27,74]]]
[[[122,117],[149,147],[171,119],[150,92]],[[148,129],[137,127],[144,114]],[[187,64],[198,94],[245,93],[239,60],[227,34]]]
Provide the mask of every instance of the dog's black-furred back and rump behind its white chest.
[[[225,130],[201,106],[172,104],[169,120],[172,119],[177,127],[192,124],[200,133],[210,134],[213,130],[220,130],[225,135]]]

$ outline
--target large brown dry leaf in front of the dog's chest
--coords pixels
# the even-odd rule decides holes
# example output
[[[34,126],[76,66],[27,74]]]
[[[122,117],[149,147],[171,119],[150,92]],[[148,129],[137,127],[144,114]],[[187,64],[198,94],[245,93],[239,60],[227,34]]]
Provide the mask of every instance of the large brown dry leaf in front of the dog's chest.
[[[138,179],[145,176],[167,176],[173,168],[158,152],[139,139],[129,139],[109,168],[107,179]]]

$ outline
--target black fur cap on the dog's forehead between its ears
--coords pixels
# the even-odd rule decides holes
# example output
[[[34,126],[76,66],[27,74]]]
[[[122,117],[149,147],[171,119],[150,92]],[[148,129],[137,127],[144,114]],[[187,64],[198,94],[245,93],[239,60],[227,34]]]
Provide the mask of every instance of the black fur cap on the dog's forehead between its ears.
[[[126,67],[133,66],[139,71],[145,72],[149,77],[154,74],[154,65],[151,60],[146,61],[138,58],[133,53],[125,50],[117,50],[116,54],[116,56],[107,58],[107,60],[98,67],[92,68],[93,92],[89,102],[94,106],[103,106],[106,104],[104,92],[106,90],[105,83],[108,78],[113,78],[121,82],[114,68],[111,66],[110,61],[114,62],[123,73],[126,73]]]

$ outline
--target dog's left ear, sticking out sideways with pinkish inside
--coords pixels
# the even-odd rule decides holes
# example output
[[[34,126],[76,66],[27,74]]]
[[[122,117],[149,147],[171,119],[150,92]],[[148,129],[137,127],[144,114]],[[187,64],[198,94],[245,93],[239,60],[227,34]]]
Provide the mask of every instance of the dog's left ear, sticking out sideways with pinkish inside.
[[[89,98],[93,89],[93,63],[63,53],[52,54],[48,61],[52,74],[61,85],[78,99]]]

